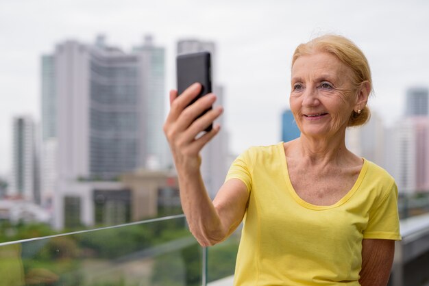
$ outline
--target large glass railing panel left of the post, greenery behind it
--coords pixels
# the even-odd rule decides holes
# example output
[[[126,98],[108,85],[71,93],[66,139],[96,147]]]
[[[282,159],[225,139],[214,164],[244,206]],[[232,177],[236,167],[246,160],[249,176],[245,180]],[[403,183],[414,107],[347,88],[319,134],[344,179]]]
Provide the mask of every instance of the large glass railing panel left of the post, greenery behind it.
[[[0,286],[200,286],[183,216],[0,244]]]

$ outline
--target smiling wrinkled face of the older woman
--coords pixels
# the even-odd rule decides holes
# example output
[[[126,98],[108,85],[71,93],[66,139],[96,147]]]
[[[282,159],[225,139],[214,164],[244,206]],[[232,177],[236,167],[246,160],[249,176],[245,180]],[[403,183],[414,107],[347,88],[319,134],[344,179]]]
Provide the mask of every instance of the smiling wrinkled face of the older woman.
[[[302,55],[292,66],[291,111],[299,130],[313,138],[343,136],[358,96],[352,70],[330,53]]]

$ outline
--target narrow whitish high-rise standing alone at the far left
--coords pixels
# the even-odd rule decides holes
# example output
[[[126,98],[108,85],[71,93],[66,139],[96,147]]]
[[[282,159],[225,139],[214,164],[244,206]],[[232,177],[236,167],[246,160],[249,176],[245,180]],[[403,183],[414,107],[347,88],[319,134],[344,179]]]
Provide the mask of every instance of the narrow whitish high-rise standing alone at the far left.
[[[13,119],[13,155],[9,196],[34,200],[38,196],[35,124],[29,116]]]

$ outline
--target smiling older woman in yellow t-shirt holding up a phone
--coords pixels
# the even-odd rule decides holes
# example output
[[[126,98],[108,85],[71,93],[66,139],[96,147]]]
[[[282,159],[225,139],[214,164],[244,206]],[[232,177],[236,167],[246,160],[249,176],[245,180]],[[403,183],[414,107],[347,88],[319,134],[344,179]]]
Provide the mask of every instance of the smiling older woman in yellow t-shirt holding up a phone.
[[[164,124],[182,207],[201,246],[223,241],[244,218],[234,285],[387,285],[400,239],[397,187],[382,168],[348,151],[345,129],[369,119],[371,73],[365,55],[342,36],[300,44],[293,55],[291,110],[301,135],[247,149],[215,200],[201,179],[199,153],[222,113],[199,114],[200,86],[170,92]]]

